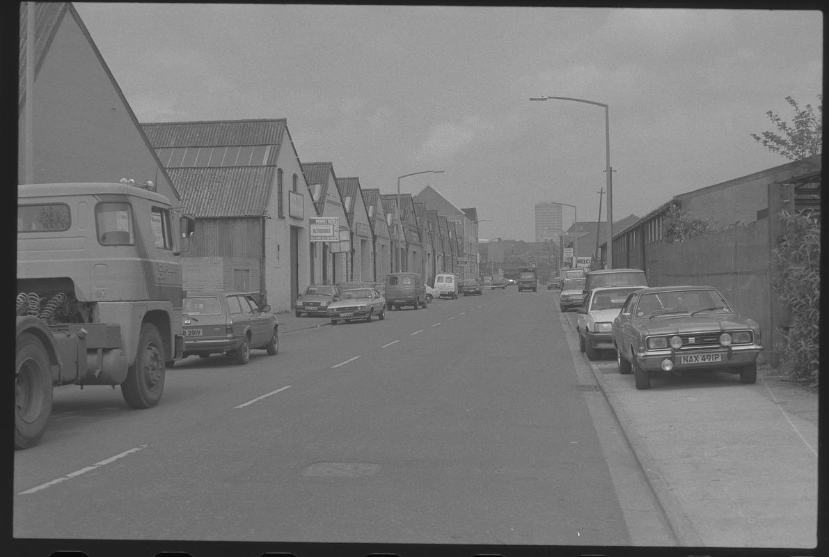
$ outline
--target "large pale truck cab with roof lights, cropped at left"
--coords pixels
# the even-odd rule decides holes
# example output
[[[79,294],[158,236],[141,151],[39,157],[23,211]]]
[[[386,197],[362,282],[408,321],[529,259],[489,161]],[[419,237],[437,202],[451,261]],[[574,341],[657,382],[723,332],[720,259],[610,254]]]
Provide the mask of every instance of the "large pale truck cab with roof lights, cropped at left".
[[[152,182],[17,187],[15,448],[36,445],[52,387],[121,385],[158,404],[182,357],[182,245],[191,216]]]

